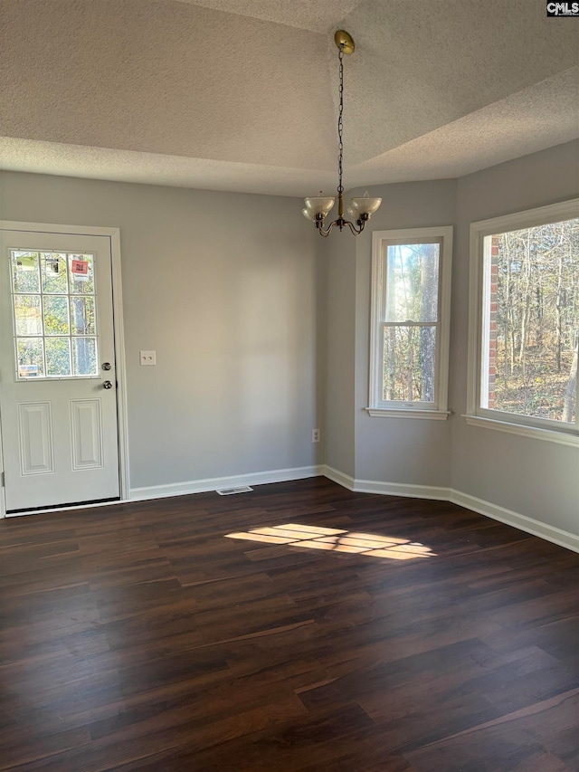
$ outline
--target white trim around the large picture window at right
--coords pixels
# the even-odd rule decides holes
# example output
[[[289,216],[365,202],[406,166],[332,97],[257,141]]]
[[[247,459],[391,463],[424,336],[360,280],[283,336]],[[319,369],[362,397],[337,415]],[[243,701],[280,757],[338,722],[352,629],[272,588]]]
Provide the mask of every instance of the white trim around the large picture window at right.
[[[579,447],[579,427],[572,424],[557,424],[545,418],[503,413],[479,407],[480,362],[484,346],[482,317],[486,291],[483,282],[484,239],[493,234],[533,228],[537,225],[557,223],[579,217],[579,198],[572,198],[558,204],[538,206],[524,212],[504,214],[489,220],[470,224],[470,289],[469,289],[469,352],[467,360],[467,412],[463,417],[467,424],[495,429],[508,434],[518,434],[536,440],[573,445]]]

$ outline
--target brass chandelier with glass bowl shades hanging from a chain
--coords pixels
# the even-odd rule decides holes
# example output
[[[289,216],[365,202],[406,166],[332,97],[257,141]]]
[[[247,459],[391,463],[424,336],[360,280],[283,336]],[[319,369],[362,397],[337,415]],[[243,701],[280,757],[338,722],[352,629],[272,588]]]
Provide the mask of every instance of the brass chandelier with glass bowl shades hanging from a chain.
[[[328,236],[332,228],[337,225],[340,231],[345,225],[356,236],[364,230],[372,214],[382,204],[382,198],[370,198],[366,190],[363,196],[351,198],[350,205],[347,207],[347,213],[355,219],[355,223],[344,219],[344,186],[342,186],[342,157],[344,154],[344,141],[342,139],[342,130],[344,129],[344,54],[354,52],[354,41],[345,30],[338,30],[334,35],[334,42],[337,45],[337,56],[339,61],[339,110],[337,115],[337,220],[333,220],[327,226],[326,217],[336,203],[334,195],[314,195],[310,198],[304,198],[304,208],[301,210],[304,217],[311,220],[318,228],[318,233],[322,236]]]

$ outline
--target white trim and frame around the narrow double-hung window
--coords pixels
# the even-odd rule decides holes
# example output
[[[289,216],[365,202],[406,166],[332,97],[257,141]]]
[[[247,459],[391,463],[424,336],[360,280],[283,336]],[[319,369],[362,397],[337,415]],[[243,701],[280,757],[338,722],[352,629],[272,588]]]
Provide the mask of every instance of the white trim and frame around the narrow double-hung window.
[[[450,415],[448,410],[449,346],[451,334],[451,272],[452,272],[452,225],[432,228],[403,228],[393,231],[375,231],[372,234],[372,297],[370,327],[370,374],[368,407],[372,417],[381,418],[427,418],[444,421]],[[404,239],[441,239],[441,261],[439,266],[439,313],[440,339],[436,351],[434,394],[432,406],[424,403],[393,402],[384,405],[382,400],[382,373],[384,367],[382,337],[378,333],[381,325],[384,282],[384,241]]]

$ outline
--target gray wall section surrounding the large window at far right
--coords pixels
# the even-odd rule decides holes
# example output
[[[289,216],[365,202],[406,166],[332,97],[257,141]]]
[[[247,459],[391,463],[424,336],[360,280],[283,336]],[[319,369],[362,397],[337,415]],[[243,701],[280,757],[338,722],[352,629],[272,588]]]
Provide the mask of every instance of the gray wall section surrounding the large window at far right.
[[[452,488],[579,533],[579,448],[466,424],[470,223],[579,195],[579,142],[458,181],[452,277]],[[579,281],[579,279],[578,279]]]

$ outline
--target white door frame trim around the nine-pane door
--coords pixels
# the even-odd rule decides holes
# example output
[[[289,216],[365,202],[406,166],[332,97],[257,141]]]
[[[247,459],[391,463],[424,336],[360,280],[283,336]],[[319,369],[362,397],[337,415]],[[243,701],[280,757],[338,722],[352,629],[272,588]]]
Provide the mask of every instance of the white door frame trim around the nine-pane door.
[[[25,231],[39,234],[68,234],[76,236],[105,236],[109,238],[112,279],[112,314],[114,329],[114,349],[117,375],[117,424],[119,430],[119,492],[120,500],[128,501],[130,486],[128,480],[128,411],[127,411],[127,372],[125,366],[125,330],[123,325],[122,277],[120,271],[120,230],[102,228],[96,225],[54,225],[47,223],[18,223],[0,220],[0,231]],[[6,517],[4,458],[2,457],[2,415],[0,415],[0,518]],[[118,503],[117,501],[112,503]],[[96,505],[90,505],[96,506]],[[99,505],[102,506],[102,505]],[[84,505],[86,507],[86,505]],[[50,511],[78,509],[75,507],[56,507]],[[41,510],[34,510],[39,512]],[[43,511],[43,510],[42,510]],[[22,514],[26,514],[23,512]]]

